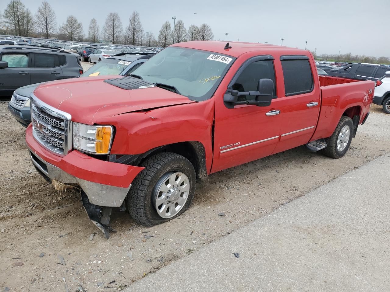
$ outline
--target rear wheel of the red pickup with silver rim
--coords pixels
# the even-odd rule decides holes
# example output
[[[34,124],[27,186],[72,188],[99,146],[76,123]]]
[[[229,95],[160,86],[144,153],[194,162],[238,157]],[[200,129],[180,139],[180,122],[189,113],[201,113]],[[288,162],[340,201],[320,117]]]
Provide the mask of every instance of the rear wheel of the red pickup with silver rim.
[[[335,159],[343,157],[351,145],[353,131],[352,119],[342,116],[332,136],[325,138],[327,146],[321,151]]]

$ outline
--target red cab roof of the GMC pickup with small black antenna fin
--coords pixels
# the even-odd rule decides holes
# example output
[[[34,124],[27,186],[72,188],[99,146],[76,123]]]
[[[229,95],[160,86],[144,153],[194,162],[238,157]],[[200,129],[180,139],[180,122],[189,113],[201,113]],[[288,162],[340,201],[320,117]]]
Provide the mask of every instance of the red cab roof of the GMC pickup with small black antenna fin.
[[[248,53],[250,51],[264,51],[269,52],[269,50],[282,50],[282,51],[293,51],[294,53],[301,51],[305,52],[307,55],[307,51],[303,49],[296,49],[291,47],[284,47],[284,46],[276,46],[271,44],[259,44],[254,42],[229,42],[229,46],[231,46],[231,49],[223,49],[225,47],[227,42],[221,42],[221,41],[202,41],[202,40],[195,40],[190,42],[180,42],[177,44],[173,44],[171,46],[177,46],[177,47],[188,47],[191,49],[200,49],[204,51],[211,51],[215,53],[220,53],[224,55],[230,55],[233,57],[238,57],[239,55],[242,55],[244,53]]]

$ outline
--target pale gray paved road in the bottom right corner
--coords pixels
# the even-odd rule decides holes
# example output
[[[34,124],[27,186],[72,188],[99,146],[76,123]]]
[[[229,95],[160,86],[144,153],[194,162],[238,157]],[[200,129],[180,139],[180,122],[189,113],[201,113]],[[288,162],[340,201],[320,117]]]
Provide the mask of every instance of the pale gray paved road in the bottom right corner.
[[[385,154],[126,291],[390,291],[389,178]]]

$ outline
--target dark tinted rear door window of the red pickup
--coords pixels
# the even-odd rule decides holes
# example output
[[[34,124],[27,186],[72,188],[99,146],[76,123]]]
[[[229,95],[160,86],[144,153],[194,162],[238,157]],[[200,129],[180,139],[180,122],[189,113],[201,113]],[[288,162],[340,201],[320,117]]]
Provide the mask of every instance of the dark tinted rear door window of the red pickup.
[[[313,90],[312,70],[308,60],[284,60],[282,69],[286,96]]]

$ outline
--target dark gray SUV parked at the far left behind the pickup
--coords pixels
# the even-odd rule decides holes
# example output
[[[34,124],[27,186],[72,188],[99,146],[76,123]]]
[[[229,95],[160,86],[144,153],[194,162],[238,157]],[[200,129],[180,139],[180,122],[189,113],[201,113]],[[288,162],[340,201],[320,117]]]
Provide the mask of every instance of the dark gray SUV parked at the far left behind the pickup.
[[[83,67],[75,54],[53,48],[0,46],[0,96],[21,86],[78,77]]]

